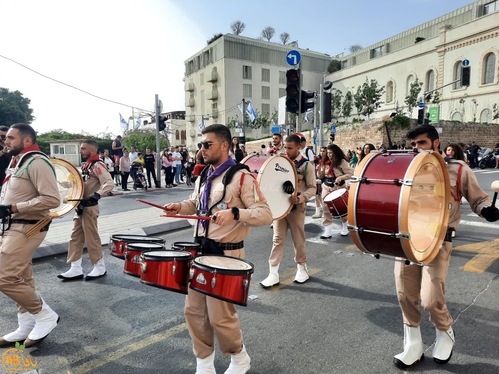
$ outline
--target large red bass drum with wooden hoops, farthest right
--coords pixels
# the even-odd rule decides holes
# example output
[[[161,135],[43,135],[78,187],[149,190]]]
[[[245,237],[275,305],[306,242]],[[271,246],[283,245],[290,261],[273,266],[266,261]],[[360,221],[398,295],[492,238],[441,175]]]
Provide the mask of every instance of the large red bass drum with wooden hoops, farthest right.
[[[370,152],[351,179],[348,230],[369,254],[432,261],[449,222],[450,181],[438,152]]]

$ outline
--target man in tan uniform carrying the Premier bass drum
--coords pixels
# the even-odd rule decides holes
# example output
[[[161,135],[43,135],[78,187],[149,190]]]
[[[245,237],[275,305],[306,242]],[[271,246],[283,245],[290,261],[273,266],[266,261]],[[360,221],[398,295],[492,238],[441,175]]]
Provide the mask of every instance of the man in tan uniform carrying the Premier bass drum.
[[[300,137],[289,135],[284,140],[285,156],[294,163],[298,174],[297,195],[291,195],[291,204],[294,204],[289,214],[273,221],[274,234],[272,237],[272,250],[268,259],[269,274],[260,282],[263,288],[279,284],[279,263],[282,260],[287,228],[291,231],[291,240],[294,247],[294,261],[297,264],[294,282],[303,283],[308,279],[307,256],[305,253],[305,211],[306,202],[315,194],[315,167],[313,163],[304,158],[300,153]]]

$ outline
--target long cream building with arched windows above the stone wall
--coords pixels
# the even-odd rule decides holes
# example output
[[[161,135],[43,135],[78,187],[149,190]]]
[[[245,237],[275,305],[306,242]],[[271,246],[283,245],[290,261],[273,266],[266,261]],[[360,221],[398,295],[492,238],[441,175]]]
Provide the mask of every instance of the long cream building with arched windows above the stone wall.
[[[341,70],[325,79],[343,95],[354,94],[366,77],[385,85],[385,103],[371,115],[380,117],[397,105],[407,107],[404,101],[416,78],[430,91],[459,79],[462,62],[469,60],[471,84],[443,88],[440,118],[472,121],[476,113],[477,122],[491,123],[493,105],[499,104],[498,36],[499,0],[479,0],[344,56]]]

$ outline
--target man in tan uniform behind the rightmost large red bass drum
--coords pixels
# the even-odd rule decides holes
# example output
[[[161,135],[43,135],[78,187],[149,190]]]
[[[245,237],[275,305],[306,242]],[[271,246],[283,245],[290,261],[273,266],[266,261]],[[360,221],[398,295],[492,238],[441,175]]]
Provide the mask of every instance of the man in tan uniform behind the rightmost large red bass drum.
[[[438,132],[431,125],[422,125],[409,131],[407,139],[414,148],[422,150],[438,151],[440,144]],[[433,360],[438,364],[446,364],[451,359],[455,336],[451,327],[453,320],[447,309],[444,293],[453,232],[461,219],[461,197],[464,196],[470,202],[471,209],[489,222],[499,219],[498,208],[492,206],[489,195],[480,188],[475,174],[468,165],[463,161],[451,159],[448,168],[452,208],[444,245],[437,256],[424,266],[395,262],[395,285],[404,320],[404,351],[395,355],[394,364],[401,369],[417,363],[424,356],[419,328],[420,298],[421,305],[430,314],[430,321],[437,332]]]

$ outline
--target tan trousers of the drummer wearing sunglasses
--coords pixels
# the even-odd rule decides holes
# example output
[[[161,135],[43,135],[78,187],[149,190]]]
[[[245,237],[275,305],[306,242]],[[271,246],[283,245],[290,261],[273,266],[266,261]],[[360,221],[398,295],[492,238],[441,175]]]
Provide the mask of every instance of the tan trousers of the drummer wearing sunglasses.
[[[245,249],[224,251],[226,256],[245,258]],[[193,342],[194,356],[206,359],[215,348],[215,334],[224,355],[243,350],[243,335],[236,305],[191,290],[186,296],[184,315]]]

